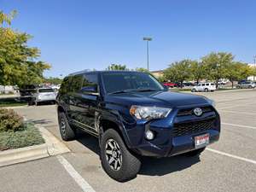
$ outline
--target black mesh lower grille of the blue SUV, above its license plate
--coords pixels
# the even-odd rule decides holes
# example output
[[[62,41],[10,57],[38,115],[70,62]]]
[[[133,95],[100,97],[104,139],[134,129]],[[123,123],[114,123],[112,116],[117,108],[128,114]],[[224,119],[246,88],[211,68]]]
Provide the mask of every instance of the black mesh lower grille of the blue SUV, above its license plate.
[[[207,131],[214,128],[215,119],[207,119],[189,123],[175,124],[173,128],[173,136],[184,136],[192,133]]]

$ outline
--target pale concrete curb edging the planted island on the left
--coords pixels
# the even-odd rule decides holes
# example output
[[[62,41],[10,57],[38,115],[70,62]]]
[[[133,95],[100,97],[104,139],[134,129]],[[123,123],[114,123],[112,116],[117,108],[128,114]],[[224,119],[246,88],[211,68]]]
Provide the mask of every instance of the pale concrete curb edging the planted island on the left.
[[[38,127],[38,130],[44,137],[45,143],[41,145],[9,149],[0,152],[0,167],[70,152],[66,145],[61,143],[44,127],[38,125],[36,125],[36,127]]]

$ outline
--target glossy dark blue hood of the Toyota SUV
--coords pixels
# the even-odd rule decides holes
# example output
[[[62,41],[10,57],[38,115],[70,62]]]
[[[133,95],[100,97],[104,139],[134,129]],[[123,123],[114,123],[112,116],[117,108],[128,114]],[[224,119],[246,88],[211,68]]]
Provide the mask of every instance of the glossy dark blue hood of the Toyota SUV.
[[[209,104],[207,98],[204,96],[195,96],[189,93],[177,93],[170,91],[121,93],[117,95],[108,96],[107,101],[129,106],[168,106],[172,108],[189,105]]]

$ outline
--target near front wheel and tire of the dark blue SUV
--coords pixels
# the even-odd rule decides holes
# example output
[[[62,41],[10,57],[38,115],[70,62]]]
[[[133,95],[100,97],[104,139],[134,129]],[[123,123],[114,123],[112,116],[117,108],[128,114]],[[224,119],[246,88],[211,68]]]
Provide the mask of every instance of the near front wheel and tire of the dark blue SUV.
[[[109,129],[102,134],[102,167],[108,176],[119,182],[125,182],[137,176],[141,161],[126,148],[119,133]]]

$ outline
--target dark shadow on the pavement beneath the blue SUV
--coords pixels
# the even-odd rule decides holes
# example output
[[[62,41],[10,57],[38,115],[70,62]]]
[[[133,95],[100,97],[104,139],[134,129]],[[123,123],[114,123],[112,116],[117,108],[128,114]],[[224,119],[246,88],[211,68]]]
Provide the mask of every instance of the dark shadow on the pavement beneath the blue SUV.
[[[83,144],[84,147],[89,148],[95,154],[100,155],[100,148],[96,137],[81,131],[78,134],[77,141]],[[138,174],[163,176],[172,172],[182,171],[200,161],[199,156],[188,157],[183,154],[166,158],[143,157],[142,167]]]

